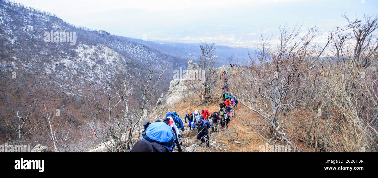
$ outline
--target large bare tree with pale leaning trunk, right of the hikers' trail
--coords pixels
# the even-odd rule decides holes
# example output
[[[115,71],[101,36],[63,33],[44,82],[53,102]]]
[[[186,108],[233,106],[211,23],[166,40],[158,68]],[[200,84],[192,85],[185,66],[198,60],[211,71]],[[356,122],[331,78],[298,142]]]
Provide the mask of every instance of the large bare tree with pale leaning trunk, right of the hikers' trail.
[[[308,68],[305,62],[308,55],[316,54],[310,41],[319,36],[318,29],[313,27],[304,37],[298,38],[300,29],[297,26],[290,29],[286,25],[280,28],[279,44],[275,48],[270,45],[270,38],[262,38],[256,58],[250,56],[251,70],[242,73],[242,88],[236,93],[240,103],[262,118],[258,123],[241,118],[245,125],[257,130],[249,133],[258,134],[271,144],[284,141],[296,150],[285,133],[282,118],[301,103],[301,95],[297,92],[306,87],[304,72]],[[266,129],[270,133],[267,136],[261,133]]]

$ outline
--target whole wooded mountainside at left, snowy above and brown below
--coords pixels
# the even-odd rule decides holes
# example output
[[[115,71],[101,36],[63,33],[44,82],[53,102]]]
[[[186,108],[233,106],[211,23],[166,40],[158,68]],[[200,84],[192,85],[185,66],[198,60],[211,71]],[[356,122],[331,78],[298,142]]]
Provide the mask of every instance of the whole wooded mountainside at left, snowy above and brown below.
[[[36,118],[42,118],[41,111],[48,106],[59,109],[69,122],[80,125],[85,99],[111,88],[108,84],[116,76],[130,79],[133,84],[129,85],[135,86],[152,70],[163,72],[160,79],[151,78],[158,81],[153,91],[161,93],[168,89],[173,70],[187,66],[182,58],[125,37],[73,26],[48,12],[3,0],[0,1],[0,46],[0,117],[2,122],[7,122],[1,124],[0,134],[10,140],[18,139],[14,135],[17,132],[11,126],[12,119],[5,118],[16,117],[17,111],[25,114],[31,103],[38,102]],[[141,96],[130,97],[138,100]],[[156,102],[157,98],[158,95],[152,96],[151,101]]]

